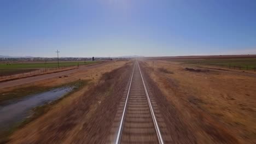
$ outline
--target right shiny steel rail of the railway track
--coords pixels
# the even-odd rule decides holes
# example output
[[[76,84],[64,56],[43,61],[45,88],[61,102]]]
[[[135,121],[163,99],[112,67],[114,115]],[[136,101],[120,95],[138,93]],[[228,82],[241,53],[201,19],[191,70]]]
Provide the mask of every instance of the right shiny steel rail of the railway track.
[[[137,62],[137,64],[138,64],[138,62]],[[139,64],[138,64],[138,68],[139,68]],[[141,68],[139,68],[139,73],[141,73]],[[155,125],[155,131],[156,131],[156,134],[158,135],[158,141],[159,141],[159,143],[164,143],[164,141],[162,140],[162,135],[160,133],[160,129],[158,127],[158,122],[156,121],[156,118],[155,118],[154,110],[153,110],[153,107],[152,107],[151,102],[150,102],[150,98],[149,98],[149,95],[148,95],[148,91],[147,91],[142,73],[141,73],[141,78],[142,78],[143,86],[144,86],[144,89],[145,89],[145,92],[146,92],[146,95],[147,95],[149,109],[150,109],[150,112],[151,112],[151,115],[152,115],[152,118],[153,118],[153,122],[154,122],[154,125]]]

